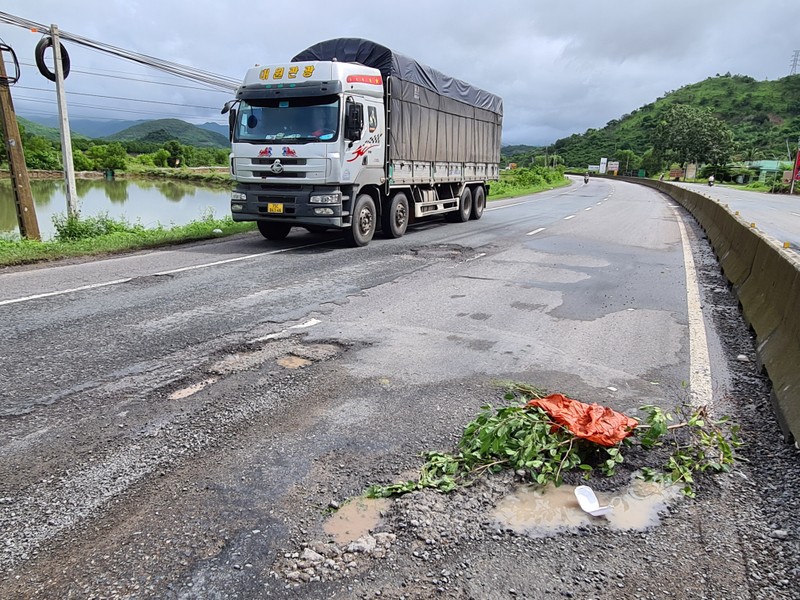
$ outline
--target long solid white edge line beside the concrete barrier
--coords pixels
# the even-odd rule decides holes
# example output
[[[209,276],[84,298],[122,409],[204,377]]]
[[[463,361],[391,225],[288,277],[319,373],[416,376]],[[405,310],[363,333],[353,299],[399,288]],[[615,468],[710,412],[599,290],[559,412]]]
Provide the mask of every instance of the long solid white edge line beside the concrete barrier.
[[[697,271],[689,247],[689,238],[683,219],[678,217],[678,229],[681,232],[683,246],[683,262],[686,265],[686,302],[689,312],[689,390],[691,402],[694,406],[710,405],[711,392],[711,361],[708,357],[708,341],[706,338],[706,325],[703,321],[703,311],[700,308],[700,290],[697,283]]]

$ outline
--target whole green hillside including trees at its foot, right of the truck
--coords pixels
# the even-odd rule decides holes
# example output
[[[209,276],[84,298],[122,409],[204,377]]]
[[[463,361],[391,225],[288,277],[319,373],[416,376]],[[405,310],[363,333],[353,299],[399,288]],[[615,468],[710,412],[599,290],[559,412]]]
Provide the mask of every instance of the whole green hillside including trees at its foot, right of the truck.
[[[503,165],[532,165],[555,159],[575,172],[599,164],[601,157],[619,162],[620,174],[658,177],[687,161],[706,165],[698,174],[714,173],[718,183],[752,185],[750,189],[785,193],[781,174],[757,181],[755,161],[778,163],[790,170],[800,135],[800,75],[756,81],[745,75],[717,75],[664,92],[604,127],[587,129],[547,147],[506,146]],[[707,172],[706,172],[707,171]],[[777,177],[776,177],[777,175]]]

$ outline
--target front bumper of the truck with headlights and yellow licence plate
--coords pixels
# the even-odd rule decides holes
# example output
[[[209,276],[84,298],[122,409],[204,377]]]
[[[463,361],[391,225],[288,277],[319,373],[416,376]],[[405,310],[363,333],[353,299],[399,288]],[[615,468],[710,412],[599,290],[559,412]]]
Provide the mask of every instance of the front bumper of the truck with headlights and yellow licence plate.
[[[312,196],[338,195],[338,203],[311,203]],[[234,221],[271,221],[287,223],[293,227],[307,225],[341,229],[348,225],[343,217],[343,196],[332,186],[237,186],[231,199],[231,216]]]

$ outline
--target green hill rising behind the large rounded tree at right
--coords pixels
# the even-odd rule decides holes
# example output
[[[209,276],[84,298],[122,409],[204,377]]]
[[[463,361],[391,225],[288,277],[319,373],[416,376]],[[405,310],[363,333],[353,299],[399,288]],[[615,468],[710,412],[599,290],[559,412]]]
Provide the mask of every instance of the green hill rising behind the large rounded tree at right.
[[[737,160],[790,160],[786,144],[796,148],[800,135],[800,75],[756,81],[743,75],[721,75],[667,92],[601,129],[589,129],[557,140],[550,151],[565,164],[585,168],[600,157],[618,158],[622,150],[638,156],[652,148],[653,135],[674,104],[708,107],[733,130]],[[539,152],[541,153],[541,151]],[[504,149],[504,156],[515,160]]]

